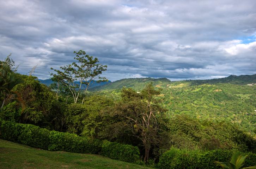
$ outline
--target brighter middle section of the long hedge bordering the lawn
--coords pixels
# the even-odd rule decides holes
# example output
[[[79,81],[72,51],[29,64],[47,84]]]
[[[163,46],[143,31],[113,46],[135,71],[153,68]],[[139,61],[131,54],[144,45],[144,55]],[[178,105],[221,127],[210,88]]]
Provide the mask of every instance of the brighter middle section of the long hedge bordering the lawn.
[[[76,134],[51,131],[49,150],[98,154],[102,141],[80,137]]]

